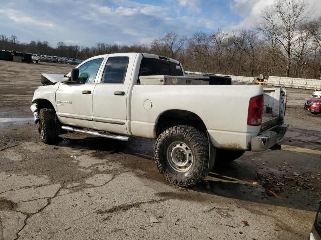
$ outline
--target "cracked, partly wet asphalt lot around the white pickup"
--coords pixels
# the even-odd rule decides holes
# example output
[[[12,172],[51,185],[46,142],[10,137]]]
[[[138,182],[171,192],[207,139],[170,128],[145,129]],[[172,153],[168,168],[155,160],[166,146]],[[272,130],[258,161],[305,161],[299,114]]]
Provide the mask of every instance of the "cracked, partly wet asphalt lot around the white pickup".
[[[39,141],[40,73],[69,70],[0,61],[0,240],[307,238],[321,198],[321,116],[302,109],[312,91],[287,89],[281,150],[247,152],[182,189],[159,174],[151,140]]]

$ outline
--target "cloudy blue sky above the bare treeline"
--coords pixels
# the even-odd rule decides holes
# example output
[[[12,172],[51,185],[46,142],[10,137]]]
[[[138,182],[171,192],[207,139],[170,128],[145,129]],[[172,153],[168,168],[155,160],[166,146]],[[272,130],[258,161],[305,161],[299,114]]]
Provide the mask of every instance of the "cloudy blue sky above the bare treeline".
[[[321,0],[305,0],[311,19]],[[274,0],[0,0],[0,34],[20,42],[46,40],[55,47],[97,42],[148,44],[167,32],[250,29]]]

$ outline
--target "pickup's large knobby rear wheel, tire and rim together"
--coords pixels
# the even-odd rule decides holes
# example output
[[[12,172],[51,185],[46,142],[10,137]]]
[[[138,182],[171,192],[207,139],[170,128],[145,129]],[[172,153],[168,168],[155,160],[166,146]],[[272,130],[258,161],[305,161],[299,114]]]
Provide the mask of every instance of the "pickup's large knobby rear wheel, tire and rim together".
[[[155,160],[165,179],[180,187],[191,187],[209,173],[206,135],[192,126],[174,126],[157,138]]]

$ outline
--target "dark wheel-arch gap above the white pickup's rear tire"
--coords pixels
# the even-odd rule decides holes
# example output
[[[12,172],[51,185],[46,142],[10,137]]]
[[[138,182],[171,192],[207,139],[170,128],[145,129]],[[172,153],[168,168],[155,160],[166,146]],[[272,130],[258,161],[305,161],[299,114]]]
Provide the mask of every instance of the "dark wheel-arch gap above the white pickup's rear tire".
[[[206,134],[205,123],[197,114],[187,110],[171,109],[162,112],[155,124],[155,135],[158,137],[165,129],[176,125],[193,126]]]

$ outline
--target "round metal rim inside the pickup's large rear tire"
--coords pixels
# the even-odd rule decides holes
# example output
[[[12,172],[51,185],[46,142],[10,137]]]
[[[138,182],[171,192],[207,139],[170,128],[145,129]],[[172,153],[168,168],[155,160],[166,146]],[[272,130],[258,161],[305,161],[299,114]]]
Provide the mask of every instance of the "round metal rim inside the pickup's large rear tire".
[[[193,164],[193,154],[188,145],[175,141],[167,149],[167,161],[177,172],[187,172]]]

